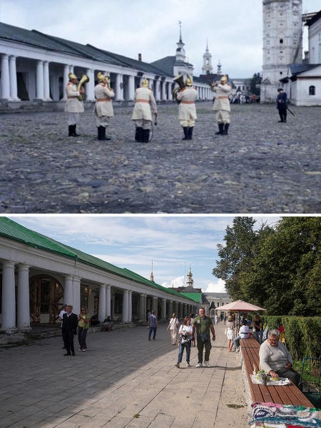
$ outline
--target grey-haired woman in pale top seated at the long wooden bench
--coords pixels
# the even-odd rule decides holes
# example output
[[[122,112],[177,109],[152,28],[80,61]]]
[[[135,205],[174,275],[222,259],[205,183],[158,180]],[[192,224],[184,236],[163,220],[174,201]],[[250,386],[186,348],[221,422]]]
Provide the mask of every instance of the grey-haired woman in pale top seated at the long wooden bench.
[[[271,377],[288,377],[297,386],[300,374],[292,369],[292,357],[285,345],[280,341],[280,332],[270,330],[267,340],[260,346],[260,369]]]

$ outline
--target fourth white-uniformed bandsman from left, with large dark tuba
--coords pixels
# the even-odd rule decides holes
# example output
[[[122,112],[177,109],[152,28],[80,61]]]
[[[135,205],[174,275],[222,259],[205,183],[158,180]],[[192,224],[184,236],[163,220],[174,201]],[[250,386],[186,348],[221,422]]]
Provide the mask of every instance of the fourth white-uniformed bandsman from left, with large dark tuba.
[[[184,137],[182,140],[193,140],[193,129],[196,116],[195,100],[198,98],[198,91],[193,86],[193,81],[190,76],[186,78],[185,88],[177,93],[176,98],[180,101],[178,107],[178,118],[180,125],[183,126]]]

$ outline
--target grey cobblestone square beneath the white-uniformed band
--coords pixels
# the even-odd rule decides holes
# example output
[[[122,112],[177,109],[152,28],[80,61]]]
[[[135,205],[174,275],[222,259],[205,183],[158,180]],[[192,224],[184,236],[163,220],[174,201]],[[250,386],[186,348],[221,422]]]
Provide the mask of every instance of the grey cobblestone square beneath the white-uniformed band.
[[[1,116],[0,213],[320,213],[320,107],[232,106],[215,136],[212,103],[198,103],[193,141],[176,105],[160,106],[153,141],[135,143],[132,108],[116,109],[110,142],[83,113]]]

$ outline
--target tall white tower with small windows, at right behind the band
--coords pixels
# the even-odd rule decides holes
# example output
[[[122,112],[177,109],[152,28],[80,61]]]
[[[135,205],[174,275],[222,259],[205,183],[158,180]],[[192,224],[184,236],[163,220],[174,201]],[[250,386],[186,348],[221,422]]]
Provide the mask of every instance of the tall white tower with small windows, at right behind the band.
[[[290,63],[302,63],[302,0],[263,0],[261,101],[274,102]]]

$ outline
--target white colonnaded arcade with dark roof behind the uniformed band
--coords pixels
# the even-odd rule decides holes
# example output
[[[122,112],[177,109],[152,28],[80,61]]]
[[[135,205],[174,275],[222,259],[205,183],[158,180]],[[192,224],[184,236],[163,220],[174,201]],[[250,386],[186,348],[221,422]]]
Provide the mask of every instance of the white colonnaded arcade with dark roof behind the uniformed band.
[[[185,71],[187,63],[181,57],[183,50],[178,49],[175,59]],[[174,70],[168,73],[155,64],[143,62],[141,54],[136,60],[90,44],[78,44],[40,31],[0,23],[0,58],[0,100],[11,108],[31,102],[63,108],[70,72],[78,78],[83,74],[90,78],[85,85],[85,108],[96,101],[93,88],[98,71],[110,76],[111,87],[116,93],[115,103],[133,102],[136,87],[141,85],[143,78],[148,78],[156,101],[173,101]],[[187,68],[188,73],[193,73],[191,64]],[[199,99],[205,99],[208,85],[195,82],[195,86]]]

